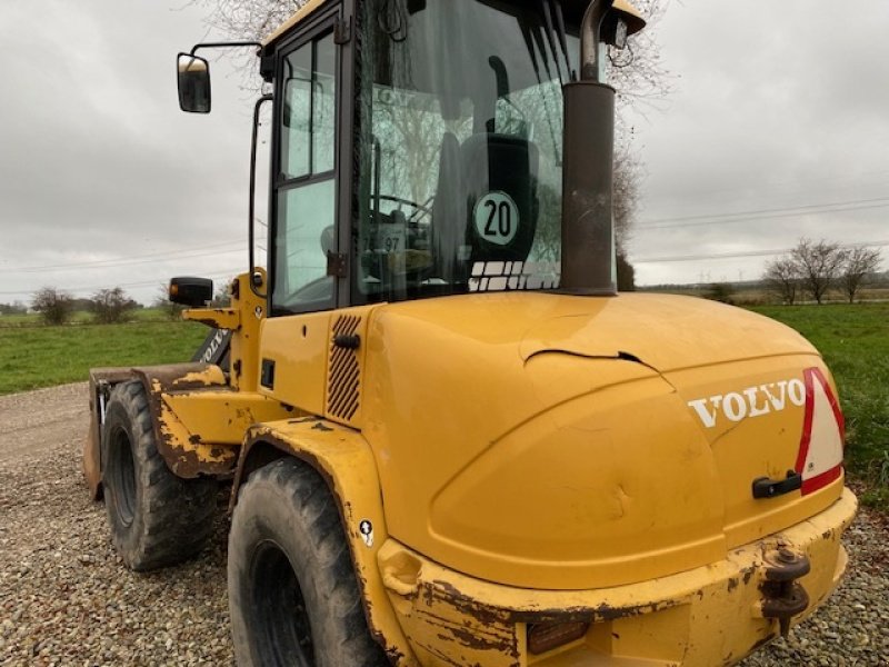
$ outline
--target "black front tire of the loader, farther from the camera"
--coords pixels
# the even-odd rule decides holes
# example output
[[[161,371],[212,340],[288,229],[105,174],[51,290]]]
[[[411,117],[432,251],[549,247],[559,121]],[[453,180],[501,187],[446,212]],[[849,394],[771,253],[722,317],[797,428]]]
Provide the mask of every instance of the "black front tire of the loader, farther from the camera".
[[[108,399],[102,488],[111,539],[137,571],[198,554],[213,529],[217,482],[180,479],[158,452],[144,387],[122,382]]]

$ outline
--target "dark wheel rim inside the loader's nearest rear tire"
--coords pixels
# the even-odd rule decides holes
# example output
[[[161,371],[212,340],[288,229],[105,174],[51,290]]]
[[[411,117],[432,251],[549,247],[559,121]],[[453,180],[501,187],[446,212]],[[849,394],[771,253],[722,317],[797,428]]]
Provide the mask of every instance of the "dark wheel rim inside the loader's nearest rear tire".
[[[309,616],[287,554],[263,541],[253,552],[249,595],[256,627],[252,646],[261,665],[314,666]]]

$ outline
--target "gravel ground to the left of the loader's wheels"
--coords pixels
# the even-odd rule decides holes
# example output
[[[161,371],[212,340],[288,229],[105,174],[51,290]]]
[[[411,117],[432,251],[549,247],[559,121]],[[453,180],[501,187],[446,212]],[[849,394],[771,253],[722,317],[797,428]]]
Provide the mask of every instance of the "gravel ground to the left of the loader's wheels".
[[[86,385],[0,397],[0,664],[233,665],[228,497],[200,558],[127,570],[80,469],[86,406]]]

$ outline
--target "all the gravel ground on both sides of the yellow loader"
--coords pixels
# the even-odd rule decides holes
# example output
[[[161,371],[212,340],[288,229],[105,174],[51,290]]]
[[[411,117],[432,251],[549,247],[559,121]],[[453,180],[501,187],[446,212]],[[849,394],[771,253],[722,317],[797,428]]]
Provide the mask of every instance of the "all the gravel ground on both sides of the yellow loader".
[[[126,570],[80,472],[86,406],[83,384],[0,397],[0,664],[232,665],[226,498],[198,560]],[[889,522],[862,511],[846,541],[842,588],[742,665],[889,666]]]

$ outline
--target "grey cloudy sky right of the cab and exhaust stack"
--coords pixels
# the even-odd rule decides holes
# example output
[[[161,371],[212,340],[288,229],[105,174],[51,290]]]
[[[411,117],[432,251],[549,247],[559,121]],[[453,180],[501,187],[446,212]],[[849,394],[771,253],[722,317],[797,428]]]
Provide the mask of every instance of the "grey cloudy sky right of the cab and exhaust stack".
[[[659,41],[680,79],[667,112],[633,123],[648,171],[633,259],[779,249],[802,236],[889,240],[889,208],[647,228],[663,218],[889,198],[889,6],[871,0],[855,12],[802,0],[670,6]],[[736,280],[757,277],[767,259],[637,269],[643,283]]]

